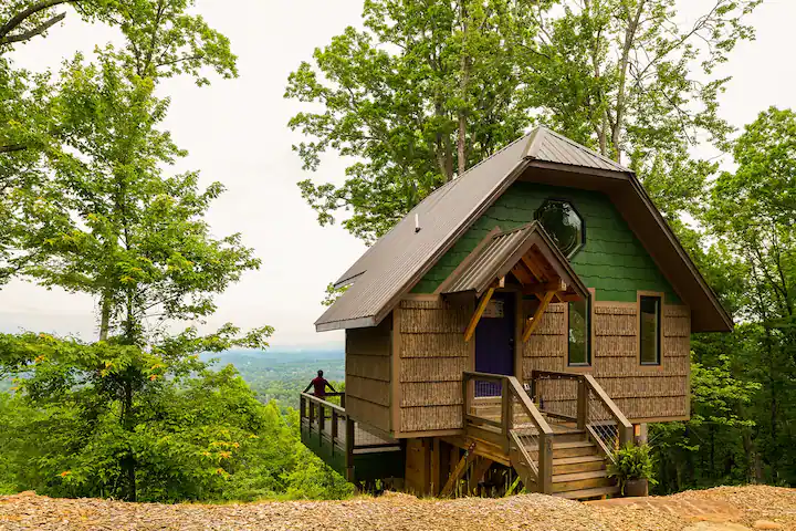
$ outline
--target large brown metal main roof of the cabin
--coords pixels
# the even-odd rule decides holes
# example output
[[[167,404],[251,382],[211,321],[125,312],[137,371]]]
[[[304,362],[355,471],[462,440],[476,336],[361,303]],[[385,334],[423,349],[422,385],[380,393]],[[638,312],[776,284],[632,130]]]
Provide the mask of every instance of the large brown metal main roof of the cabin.
[[[567,166],[590,168],[607,171],[608,175],[629,176],[631,180],[636,180],[632,173],[624,166],[545,127],[538,127],[429,195],[376,241],[335,282],[337,287],[352,285],[315,322],[316,330],[378,324],[398,303],[400,296],[409,291],[517,176],[535,162],[553,163],[562,170],[566,170]],[[651,206],[648,208],[654,209]],[[419,231],[415,230],[416,216]],[[663,230],[674,238],[664,222]],[[689,268],[699,275],[675,238],[674,241],[678,256],[688,261]],[[703,289],[710,292],[704,280],[701,277],[699,280]],[[721,308],[712,292],[709,296],[713,298],[713,305]],[[720,312],[723,312],[723,309]],[[731,323],[725,312],[724,321]]]

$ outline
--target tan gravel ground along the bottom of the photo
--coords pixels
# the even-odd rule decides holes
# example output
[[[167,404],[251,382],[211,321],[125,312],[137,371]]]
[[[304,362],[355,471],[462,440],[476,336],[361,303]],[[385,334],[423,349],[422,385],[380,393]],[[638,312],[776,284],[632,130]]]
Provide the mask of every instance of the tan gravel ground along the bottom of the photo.
[[[0,498],[0,530],[669,531],[752,529],[760,520],[778,525],[767,529],[796,530],[796,489],[722,487],[638,500],[578,503],[523,494],[440,501],[386,493],[346,501],[166,506],[54,499],[31,492]],[[703,527],[719,521],[735,527]]]

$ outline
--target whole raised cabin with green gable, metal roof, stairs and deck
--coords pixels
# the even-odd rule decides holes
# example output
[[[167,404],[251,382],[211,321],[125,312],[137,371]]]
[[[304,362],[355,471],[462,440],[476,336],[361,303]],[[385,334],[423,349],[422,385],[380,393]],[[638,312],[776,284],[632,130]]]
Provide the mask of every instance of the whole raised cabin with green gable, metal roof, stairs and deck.
[[[606,465],[689,418],[690,334],[732,321],[636,175],[540,127],[449,181],[336,282],[341,405],[302,438],[422,494],[616,493]]]

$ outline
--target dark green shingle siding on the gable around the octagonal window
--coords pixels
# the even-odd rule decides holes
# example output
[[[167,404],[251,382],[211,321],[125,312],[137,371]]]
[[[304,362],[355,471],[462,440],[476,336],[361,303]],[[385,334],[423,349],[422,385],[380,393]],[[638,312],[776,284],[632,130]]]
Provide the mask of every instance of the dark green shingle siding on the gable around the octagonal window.
[[[432,293],[495,226],[513,229],[533,221],[545,199],[570,201],[586,227],[586,244],[570,259],[598,301],[636,301],[637,290],[661,291],[667,302],[680,299],[607,196],[576,188],[533,183],[514,184],[415,285],[412,293]]]

